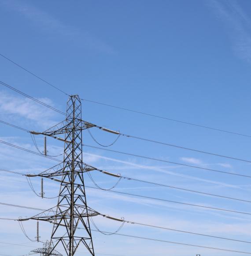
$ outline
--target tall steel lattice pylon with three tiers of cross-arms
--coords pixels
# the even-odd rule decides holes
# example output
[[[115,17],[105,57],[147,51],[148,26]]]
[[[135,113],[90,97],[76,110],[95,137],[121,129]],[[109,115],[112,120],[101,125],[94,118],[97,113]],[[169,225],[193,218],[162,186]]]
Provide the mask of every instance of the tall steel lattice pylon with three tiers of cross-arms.
[[[74,256],[81,244],[85,245],[90,255],[95,255],[89,217],[98,213],[86,203],[83,173],[92,168],[83,163],[82,156],[82,130],[95,126],[81,119],[81,101],[78,95],[72,95],[67,102],[66,120],[44,132],[31,132],[51,136],[65,143],[63,162],[39,175],[60,177],[60,180],[53,178],[61,182],[58,204],[31,218],[53,223],[46,256],[55,255],[55,249],[62,245],[67,256]],[[65,138],[56,137],[60,134],[65,134]]]

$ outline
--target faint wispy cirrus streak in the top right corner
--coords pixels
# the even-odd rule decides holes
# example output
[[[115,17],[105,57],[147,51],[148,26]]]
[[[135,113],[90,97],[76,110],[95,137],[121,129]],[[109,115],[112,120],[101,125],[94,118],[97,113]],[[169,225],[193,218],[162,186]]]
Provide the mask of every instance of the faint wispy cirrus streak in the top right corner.
[[[251,19],[243,8],[234,0],[210,0],[207,3],[225,24],[235,55],[251,63]]]

